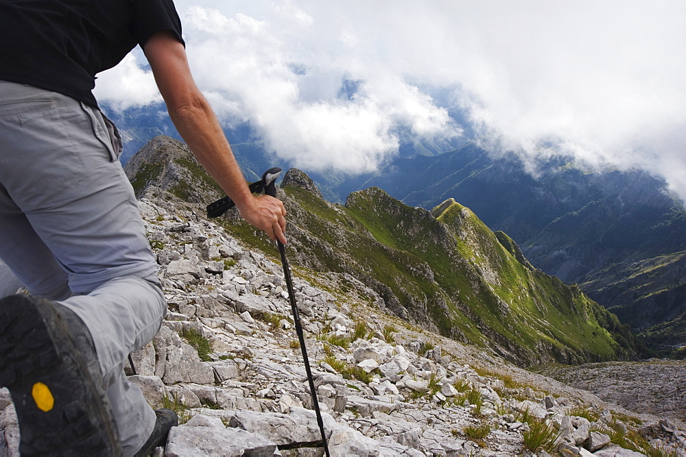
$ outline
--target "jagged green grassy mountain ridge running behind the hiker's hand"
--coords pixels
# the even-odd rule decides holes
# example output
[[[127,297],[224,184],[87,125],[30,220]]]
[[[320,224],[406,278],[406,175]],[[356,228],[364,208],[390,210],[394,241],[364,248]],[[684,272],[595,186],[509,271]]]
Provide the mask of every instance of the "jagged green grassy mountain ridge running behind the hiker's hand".
[[[182,143],[154,138],[126,165],[140,197],[196,203],[221,196]],[[165,195],[167,197],[165,197]],[[307,274],[360,282],[376,304],[445,336],[493,348],[520,365],[633,358],[632,334],[576,286],[532,267],[504,233],[494,234],[452,199],[411,208],[379,188],[325,201],[305,173],[279,190],[289,212],[289,259]],[[273,245],[243,221],[220,222],[247,243]]]

